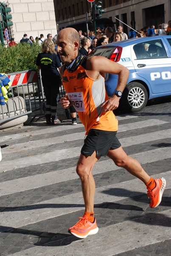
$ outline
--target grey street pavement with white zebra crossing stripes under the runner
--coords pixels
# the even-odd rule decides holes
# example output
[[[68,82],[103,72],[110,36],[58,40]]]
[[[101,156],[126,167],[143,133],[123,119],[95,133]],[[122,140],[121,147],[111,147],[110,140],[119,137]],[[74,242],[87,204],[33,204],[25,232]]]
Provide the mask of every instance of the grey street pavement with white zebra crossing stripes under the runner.
[[[165,177],[161,204],[151,209],[144,184],[101,157],[93,169],[99,232],[82,240],[67,233],[84,212],[75,172],[84,127],[60,106],[59,125],[32,113],[22,128],[0,132],[0,256],[171,256],[171,102],[115,114],[126,153]]]

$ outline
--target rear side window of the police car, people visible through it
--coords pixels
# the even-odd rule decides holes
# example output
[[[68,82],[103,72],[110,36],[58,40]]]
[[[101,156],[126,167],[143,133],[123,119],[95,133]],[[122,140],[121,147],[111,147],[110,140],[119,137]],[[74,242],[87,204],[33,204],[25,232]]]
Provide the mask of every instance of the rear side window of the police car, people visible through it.
[[[135,44],[133,49],[137,59],[167,57],[165,47],[161,40],[146,41],[140,44]]]

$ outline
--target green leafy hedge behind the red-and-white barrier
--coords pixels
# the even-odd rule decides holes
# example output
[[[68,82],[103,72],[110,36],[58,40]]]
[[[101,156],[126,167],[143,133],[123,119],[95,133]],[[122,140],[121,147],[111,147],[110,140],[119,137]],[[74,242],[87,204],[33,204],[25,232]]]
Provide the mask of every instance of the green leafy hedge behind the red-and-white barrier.
[[[0,44],[0,73],[15,73],[28,69],[36,69],[36,58],[41,52],[39,44],[17,44],[4,47]],[[38,70],[37,70],[38,71]]]

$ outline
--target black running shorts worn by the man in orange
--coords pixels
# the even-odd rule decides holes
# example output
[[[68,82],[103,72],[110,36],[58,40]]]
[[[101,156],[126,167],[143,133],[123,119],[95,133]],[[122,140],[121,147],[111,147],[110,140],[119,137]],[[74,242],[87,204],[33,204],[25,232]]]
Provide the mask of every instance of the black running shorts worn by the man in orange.
[[[121,147],[121,143],[116,137],[117,131],[102,131],[90,129],[81,148],[81,154],[91,156],[94,151],[98,157],[106,157],[110,149]]]

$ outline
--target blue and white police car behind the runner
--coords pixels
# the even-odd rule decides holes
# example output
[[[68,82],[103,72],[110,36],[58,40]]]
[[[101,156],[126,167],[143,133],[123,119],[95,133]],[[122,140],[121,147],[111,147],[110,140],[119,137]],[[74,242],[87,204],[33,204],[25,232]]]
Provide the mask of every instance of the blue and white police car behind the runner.
[[[129,79],[120,100],[129,112],[142,110],[149,99],[171,95],[171,36],[132,38],[97,47],[90,55],[101,55],[129,69]],[[108,96],[118,76],[105,75]]]

